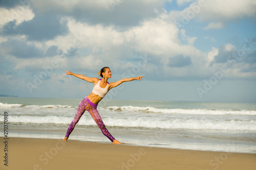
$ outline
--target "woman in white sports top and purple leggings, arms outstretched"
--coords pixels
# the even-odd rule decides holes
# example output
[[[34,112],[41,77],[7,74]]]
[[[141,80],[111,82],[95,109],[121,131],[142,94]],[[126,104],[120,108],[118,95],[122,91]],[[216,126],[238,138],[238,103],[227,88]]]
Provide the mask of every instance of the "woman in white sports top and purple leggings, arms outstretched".
[[[66,71],[66,70],[65,70]],[[103,133],[103,135],[105,135],[106,137],[108,137],[113,144],[120,144],[119,141],[117,141],[108,131],[108,129],[106,129],[104,123],[102,122],[102,119],[98,113],[97,110],[97,105],[98,103],[104,98],[104,96],[106,95],[106,93],[108,93],[108,91],[118,85],[120,85],[123,82],[129,82],[129,81],[133,81],[133,80],[141,80],[142,77],[144,76],[139,76],[136,78],[125,78],[125,79],[121,79],[117,82],[108,82],[108,79],[111,78],[111,70],[109,67],[103,67],[101,68],[101,70],[98,72],[99,76],[102,77],[102,79],[98,79],[98,78],[88,78],[86,76],[83,75],[77,75],[74,74],[70,71],[66,71],[67,75],[73,75],[79,79],[88,81],[90,83],[94,83],[94,88],[91,94],[89,94],[88,96],[86,96],[79,104],[78,108],[77,108],[77,112],[76,115],[74,117],[74,119],[72,120],[67,134],[65,136],[65,138],[62,141],[67,141],[69,138],[69,135],[71,134],[71,132],[74,130],[76,124],[78,123],[80,117],[82,116],[82,114],[84,113],[84,111],[88,110],[88,112],[91,114],[91,116],[93,117],[93,119],[95,120],[96,124],[98,125],[98,127],[100,128],[101,132]]]

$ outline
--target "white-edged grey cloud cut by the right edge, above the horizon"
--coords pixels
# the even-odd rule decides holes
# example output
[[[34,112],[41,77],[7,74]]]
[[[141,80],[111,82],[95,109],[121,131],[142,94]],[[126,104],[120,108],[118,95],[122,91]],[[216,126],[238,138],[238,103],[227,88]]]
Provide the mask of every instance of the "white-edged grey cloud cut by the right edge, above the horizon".
[[[248,41],[249,42],[249,41]],[[247,44],[247,43],[244,43]],[[248,45],[248,44],[247,44]],[[250,44],[252,46],[252,44]],[[209,72],[222,72],[226,79],[255,80],[256,52],[255,46],[248,51],[246,45],[235,47],[229,43],[222,44],[219,49],[212,47],[208,53],[208,62],[204,70]],[[247,49],[247,50],[246,50]],[[222,68],[226,69],[223,71]]]

